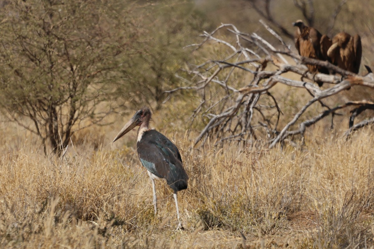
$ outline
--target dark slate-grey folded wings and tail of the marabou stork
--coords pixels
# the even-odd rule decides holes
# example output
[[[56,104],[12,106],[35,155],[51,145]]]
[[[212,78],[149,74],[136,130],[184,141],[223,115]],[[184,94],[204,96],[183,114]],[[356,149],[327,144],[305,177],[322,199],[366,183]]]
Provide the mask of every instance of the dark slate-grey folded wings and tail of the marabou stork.
[[[152,174],[165,178],[174,191],[187,188],[188,175],[181,155],[167,137],[156,130],[145,131],[137,143],[139,159]]]

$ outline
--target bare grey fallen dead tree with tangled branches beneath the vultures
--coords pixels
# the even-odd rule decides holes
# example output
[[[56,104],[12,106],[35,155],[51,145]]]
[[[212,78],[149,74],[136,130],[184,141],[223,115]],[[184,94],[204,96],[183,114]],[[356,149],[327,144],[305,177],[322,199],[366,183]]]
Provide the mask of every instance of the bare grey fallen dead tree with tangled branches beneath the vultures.
[[[213,138],[216,145],[236,141],[243,145],[253,145],[262,140],[274,147],[285,140],[291,141],[295,135],[304,136],[307,127],[316,124],[323,118],[331,116],[331,126],[334,116],[341,115],[338,110],[352,108],[349,117],[349,129],[344,136],[365,125],[372,124],[374,118],[354,124],[354,119],[366,109],[374,109],[374,103],[362,101],[348,101],[334,105],[333,108],[324,103],[324,99],[349,89],[352,86],[374,88],[374,75],[369,71],[365,76],[353,74],[332,65],[327,61],[302,57],[293,53],[282,38],[268,25],[261,24],[274,35],[279,44],[276,47],[264,38],[252,33],[240,32],[232,24],[222,24],[213,32],[204,32],[202,43],[193,44],[194,50],[205,44],[219,44],[230,50],[230,54],[223,59],[207,60],[200,65],[191,66],[186,70],[192,75],[191,81],[185,80],[185,86],[168,91],[195,90],[201,96],[201,101],[191,116],[192,122],[202,116],[206,125],[194,141],[195,145],[202,144],[208,138]],[[218,31],[225,29],[234,37],[218,38]],[[214,43],[212,45],[212,43]],[[294,63],[296,62],[296,63]],[[324,66],[338,74],[311,74],[303,64]],[[275,68],[269,70],[270,68]],[[300,80],[286,77],[286,72],[300,75]],[[237,84],[240,81],[245,84]],[[245,80],[244,80],[245,79]],[[328,88],[321,89],[316,83],[328,83]],[[270,93],[276,84],[288,85],[292,88],[304,88],[309,93],[307,103],[294,113],[293,117],[283,125],[279,125],[282,110],[279,99]],[[323,111],[312,118],[305,118],[303,114],[314,104],[318,103]]]

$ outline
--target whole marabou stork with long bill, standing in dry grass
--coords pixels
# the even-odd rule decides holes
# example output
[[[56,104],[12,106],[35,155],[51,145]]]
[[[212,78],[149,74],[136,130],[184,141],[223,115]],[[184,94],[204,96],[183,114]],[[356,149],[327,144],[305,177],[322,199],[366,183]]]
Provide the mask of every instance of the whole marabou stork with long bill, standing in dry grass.
[[[157,213],[157,197],[154,179],[166,180],[174,191],[175,207],[177,208],[178,228],[181,228],[177,192],[187,189],[188,175],[182,166],[181,155],[177,146],[156,130],[148,128],[151,111],[148,108],[138,110],[131,120],[114,138],[113,142],[131,131],[135,126],[138,130],[137,151],[142,165],[147,169],[153,189],[154,214]]]

